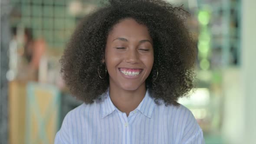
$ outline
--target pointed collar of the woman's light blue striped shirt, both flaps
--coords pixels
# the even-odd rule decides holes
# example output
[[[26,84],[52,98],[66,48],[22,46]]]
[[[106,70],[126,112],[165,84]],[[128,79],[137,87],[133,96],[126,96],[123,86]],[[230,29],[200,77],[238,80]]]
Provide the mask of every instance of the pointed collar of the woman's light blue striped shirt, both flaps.
[[[117,109],[109,97],[109,88],[107,92],[103,94],[103,98],[104,97],[105,99],[102,101],[100,109],[102,118],[105,118],[107,115],[110,115],[113,111]],[[154,98],[151,98],[147,90],[145,97],[135,110],[141,111],[143,115],[147,116],[148,118],[151,118],[155,105],[156,104],[154,102]]]

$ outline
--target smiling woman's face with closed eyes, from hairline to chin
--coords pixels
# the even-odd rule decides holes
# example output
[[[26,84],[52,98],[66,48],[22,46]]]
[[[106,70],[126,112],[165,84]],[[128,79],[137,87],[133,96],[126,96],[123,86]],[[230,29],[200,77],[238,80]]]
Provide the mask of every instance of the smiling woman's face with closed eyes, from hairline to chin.
[[[154,62],[148,28],[133,19],[116,24],[109,33],[105,59],[111,87],[133,91],[145,86]]]

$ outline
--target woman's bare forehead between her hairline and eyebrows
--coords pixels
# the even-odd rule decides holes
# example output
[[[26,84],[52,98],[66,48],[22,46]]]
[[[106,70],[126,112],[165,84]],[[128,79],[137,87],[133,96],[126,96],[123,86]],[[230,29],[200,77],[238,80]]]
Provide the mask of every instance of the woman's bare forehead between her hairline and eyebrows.
[[[109,38],[125,37],[128,39],[151,39],[147,26],[137,23],[134,19],[121,20],[113,26]]]

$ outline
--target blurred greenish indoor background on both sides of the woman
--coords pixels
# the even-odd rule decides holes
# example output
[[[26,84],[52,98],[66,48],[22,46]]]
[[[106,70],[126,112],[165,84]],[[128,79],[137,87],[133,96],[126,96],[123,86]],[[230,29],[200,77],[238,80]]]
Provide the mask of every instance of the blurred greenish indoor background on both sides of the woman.
[[[179,102],[206,144],[256,144],[256,0],[168,0],[191,13],[197,88]],[[59,75],[79,20],[98,0],[0,0],[0,144],[53,144],[82,104]]]

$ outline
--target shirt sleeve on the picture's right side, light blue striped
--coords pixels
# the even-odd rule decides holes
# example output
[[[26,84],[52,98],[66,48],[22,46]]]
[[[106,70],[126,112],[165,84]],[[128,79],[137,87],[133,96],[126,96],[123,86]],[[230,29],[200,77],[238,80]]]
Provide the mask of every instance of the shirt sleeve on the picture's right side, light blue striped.
[[[189,115],[187,116],[182,144],[205,144],[203,131],[191,111],[189,111]]]

